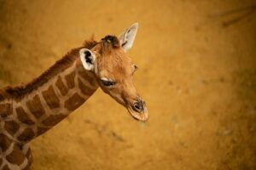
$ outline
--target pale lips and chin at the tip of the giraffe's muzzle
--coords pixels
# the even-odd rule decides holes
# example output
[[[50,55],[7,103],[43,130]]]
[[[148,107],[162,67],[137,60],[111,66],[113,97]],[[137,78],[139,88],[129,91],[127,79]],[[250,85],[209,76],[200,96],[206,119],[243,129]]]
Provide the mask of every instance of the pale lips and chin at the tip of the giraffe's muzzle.
[[[146,122],[148,120],[148,109],[146,105],[143,106],[143,110],[139,110],[134,105],[128,105],[127,110],[129,111],[131,116],[135,118],[137,121]]]

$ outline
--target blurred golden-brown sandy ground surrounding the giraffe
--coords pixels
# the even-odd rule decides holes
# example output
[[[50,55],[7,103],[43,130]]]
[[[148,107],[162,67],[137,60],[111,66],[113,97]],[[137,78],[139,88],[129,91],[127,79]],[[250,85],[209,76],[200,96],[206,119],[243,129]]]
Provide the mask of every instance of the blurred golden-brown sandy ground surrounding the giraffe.
[[[101,89],[32,141],[35,170],[256,169],[254,0],[0,0],[0,86],[139,22],[137,122]]]

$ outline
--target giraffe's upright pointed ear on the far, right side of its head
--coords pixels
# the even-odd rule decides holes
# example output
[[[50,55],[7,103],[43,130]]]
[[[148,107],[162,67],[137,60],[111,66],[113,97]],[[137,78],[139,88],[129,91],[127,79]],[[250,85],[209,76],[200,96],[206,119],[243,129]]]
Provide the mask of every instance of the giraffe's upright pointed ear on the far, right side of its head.
[[[119,42],[122,48],[124,48],[125,52],[127,52],[132,47],[132,44],[137,34],[137,28],[138,23],[136,22],[129,28],[127,28],[126,31],[121,33],[121,35],[119,36]]]

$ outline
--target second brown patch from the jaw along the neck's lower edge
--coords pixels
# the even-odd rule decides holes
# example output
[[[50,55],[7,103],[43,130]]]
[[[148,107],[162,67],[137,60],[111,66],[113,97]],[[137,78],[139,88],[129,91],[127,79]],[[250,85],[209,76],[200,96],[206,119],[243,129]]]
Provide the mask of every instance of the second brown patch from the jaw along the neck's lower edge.
[[[84,103],[85,99],[79,96],[79,94],[73,94],[67,101],[65,101],[65,108],[67,108],[68,111],[74,111],[77,109],[80,105]]]

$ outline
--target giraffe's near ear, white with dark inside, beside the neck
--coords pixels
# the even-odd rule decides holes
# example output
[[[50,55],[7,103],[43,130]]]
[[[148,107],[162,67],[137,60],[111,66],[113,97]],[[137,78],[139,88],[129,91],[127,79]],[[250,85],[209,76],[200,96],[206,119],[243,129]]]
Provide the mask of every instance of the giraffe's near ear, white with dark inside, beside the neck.
[[[95,54],[90,51],[90,49],[82,48],[79,51],[80,59],[84,65],[84,69],[87,71],[92,71],[94,69]]]

